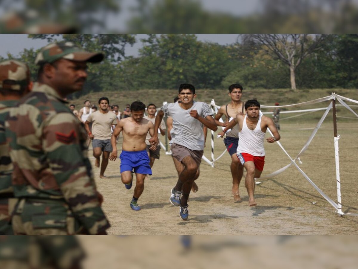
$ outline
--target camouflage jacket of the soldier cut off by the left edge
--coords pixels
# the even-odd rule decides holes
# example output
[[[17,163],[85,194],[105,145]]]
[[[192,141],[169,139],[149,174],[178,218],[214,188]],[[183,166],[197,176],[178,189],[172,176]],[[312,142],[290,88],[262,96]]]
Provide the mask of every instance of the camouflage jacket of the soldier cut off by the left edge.
[[[17,101],[0,102],[0,197],[1,194],[13,193],[11,187],[11,173],[13,165],[9,155],[9,145],[5,137],[5,119],[9,114],[9,109],[16,105]]]

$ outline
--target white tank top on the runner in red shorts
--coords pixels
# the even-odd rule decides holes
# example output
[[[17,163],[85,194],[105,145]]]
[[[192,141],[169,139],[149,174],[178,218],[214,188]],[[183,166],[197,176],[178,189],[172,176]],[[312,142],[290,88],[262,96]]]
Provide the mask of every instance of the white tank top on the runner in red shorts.
[[[241,132],[239,132],[237,153],[248,153],[252,156],[265,156],[265,148],[263,147],[265,133],[261,131],[262,115],[259,116],[256,128],[254,130],[250,130],[247,127],[246,118],[247,115],[245,115]]]

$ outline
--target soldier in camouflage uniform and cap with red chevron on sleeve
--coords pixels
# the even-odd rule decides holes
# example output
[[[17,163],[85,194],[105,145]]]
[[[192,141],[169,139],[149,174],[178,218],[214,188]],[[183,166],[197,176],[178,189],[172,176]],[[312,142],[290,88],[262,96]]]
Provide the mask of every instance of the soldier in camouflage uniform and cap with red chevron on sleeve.
[[[19,198],[15,234],[105,235],[110,227],[87,157],[86,131],[64,100],[82,89],[86,62],[102,59],[71,42],[49,44],[37,55],[38,82],[6,121]]]

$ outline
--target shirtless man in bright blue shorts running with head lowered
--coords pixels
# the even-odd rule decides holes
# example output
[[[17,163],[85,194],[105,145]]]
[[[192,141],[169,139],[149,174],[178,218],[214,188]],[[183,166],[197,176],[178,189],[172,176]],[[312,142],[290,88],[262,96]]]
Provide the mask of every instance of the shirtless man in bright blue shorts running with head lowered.
[[[152,170],[149,165],[149,157],[146,151],[145,138],[149,132],[151,136],[154,134],[154,125],[151,121],[144,119],[145,104],[135,101],[130,106],[131,117],[121,119],[113,131],[111,137],[112,154],[111,161],[117,158],[117,136],[122,131],[123,144],[121,159],[121,178],[126,189],[132,188],[133,170],[136,174],[136,186],[130,206],[133,210],[138,211],[140,207],[137,201],[144,190],[144,178],[147,174],[151,175]],[[156,144],[150,147],[155,150]]]

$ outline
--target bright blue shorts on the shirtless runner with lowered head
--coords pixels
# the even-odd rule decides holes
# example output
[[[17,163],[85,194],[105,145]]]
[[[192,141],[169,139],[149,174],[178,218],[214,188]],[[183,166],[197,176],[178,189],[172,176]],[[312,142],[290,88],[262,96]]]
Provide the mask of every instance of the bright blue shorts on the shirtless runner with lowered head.
[[[141,151],[125,151],[122,150],[121,155],[121,173],[124,171],[133,171],[134,173],[151,175],[152,169],[149,165],[149,157],[146,150]]]

